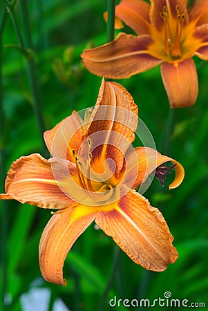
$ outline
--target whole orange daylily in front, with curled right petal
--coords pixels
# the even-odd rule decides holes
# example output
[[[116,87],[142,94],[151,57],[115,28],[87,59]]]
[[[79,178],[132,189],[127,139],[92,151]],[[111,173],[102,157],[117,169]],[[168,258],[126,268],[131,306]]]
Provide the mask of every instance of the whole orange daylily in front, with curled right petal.
[[[0,198],[58,209],[39,244],[46,281],[66,285],[66,254],[93,220],[146,269],[165,270],[178,258],[162,214],[133,189],[154,171],[163,182],[167,161],[176,164],[169,188],[178,187],[184,169],[154,149],[131,147],[137,125],[138,107],[131,95],[120,84],[103,79],[95,108],[86,110],[84,120],[73,112],[44,133],[50,160],[35,153],[13,162],[6,194]]]

